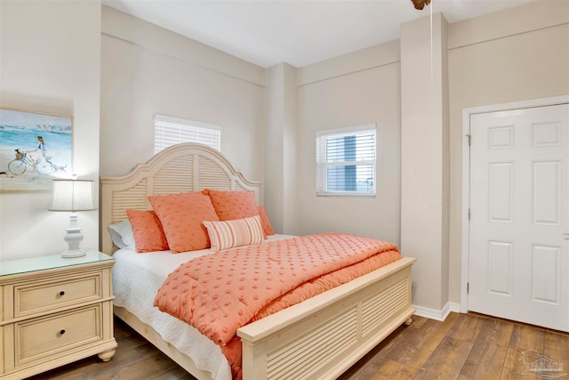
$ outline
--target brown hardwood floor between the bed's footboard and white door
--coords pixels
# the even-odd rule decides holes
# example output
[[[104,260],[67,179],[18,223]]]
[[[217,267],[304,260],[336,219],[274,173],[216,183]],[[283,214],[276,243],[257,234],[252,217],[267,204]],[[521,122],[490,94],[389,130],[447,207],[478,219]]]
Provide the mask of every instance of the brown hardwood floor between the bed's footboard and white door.
[[[569,368],[569,334],[476,314],[413,317],[341,379],[536,379],[520,360],[530,350]]]

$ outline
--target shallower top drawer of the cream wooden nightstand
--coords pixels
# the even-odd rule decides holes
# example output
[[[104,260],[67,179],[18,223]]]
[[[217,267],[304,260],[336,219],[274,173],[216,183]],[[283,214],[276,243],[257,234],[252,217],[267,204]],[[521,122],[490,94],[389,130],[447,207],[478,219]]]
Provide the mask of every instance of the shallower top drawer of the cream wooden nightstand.
[[[101,273],[50,279],[14,286],[14,317],[36,312],[60,310],[61,307],[101,298]]]

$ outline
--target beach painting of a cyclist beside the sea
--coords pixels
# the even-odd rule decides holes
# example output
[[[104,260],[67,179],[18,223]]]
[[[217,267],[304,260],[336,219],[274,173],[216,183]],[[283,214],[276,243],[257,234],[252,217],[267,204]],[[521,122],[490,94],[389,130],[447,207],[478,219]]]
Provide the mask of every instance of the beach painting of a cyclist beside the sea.
[[[70,178],[73,117],[0,108],[0,191],[51,191]]]

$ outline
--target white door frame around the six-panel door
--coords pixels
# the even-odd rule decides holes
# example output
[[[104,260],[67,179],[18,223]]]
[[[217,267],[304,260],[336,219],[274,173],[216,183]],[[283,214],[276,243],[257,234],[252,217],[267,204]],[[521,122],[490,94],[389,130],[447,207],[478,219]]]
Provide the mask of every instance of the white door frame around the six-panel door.
[[[513,109],[531,109],[535,107],[555,106],[569,103],[569,95],[530,101],[515,101],[462,109],[462,201],[461,201],[461,312],[469,311],[469,247],[470,247],[470,117],[475,114],[508,111]]]

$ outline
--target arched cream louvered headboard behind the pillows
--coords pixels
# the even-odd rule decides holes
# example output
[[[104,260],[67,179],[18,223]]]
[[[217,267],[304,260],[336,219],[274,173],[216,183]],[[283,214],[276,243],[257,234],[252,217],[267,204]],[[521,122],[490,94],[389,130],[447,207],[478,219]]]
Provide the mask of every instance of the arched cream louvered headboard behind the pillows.
[[[261,183],[247,180],[218,150],[192,142],[172,145],[120,177],[100,177],[102,251],[115,250],[110,224],[127,219],[127,209],[148,210],[148,196],[182,191],[248,190],[262,204]]]

